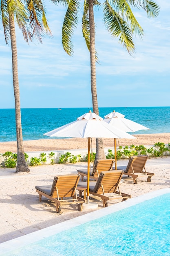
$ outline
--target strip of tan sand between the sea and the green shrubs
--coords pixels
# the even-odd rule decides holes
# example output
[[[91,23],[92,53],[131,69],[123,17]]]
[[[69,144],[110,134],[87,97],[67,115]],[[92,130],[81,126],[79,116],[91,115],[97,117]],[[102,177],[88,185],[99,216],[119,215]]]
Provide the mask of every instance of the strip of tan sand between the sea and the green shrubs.
[[[136,139],[118,139],[117,146],[154,146],[155,143],[162,142],[165,144],[170,143],[169,133],[153,133],[153,134],[137,134],[133,135]],[[84,149],[88,147],[87,138],[66,138],[66,139],[37,139],[25,140],[24,152],[43,152],[43,151],[57,151],[57,150],[72,150]],[[114,139],[104,138],[103,145],[105,147],[114,147]],[[93,148],[96,147],[95,138],[92,139]],[[17,152],[16,141],[0,142],[0,153],[11,151]]]

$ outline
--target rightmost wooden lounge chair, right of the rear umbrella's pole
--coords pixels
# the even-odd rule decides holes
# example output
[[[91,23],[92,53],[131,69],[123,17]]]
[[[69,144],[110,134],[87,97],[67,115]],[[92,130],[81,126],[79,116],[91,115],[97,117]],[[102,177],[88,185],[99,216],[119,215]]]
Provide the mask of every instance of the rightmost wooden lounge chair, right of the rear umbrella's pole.
[[[127,166],[117,166],[117,170],[124,170],[124,175],[131,176],[134,184],[137,184],[137,178],[145,176],[148,177],[147,182],[151,182],[151,177],[154,173],[148,173],[146,171],[145,164],[147,159],[147,155],[132,156]]]

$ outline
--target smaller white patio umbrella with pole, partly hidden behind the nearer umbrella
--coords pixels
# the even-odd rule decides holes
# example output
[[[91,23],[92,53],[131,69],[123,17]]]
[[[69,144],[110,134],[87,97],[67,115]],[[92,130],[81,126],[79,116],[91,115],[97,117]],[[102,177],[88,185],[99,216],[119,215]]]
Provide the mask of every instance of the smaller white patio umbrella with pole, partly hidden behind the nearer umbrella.
[[[108,115],[104,116],[105,121],[108,124],[111,124],[117,129],[123,130],[124,132],[136,132],[138,130],[149,130],[149,128],[138,124],[134,121],[124,118],[125,116],[115,110]],[[117,159],[116,159],[116,139],[115,139],[115,170],[117,169]]]

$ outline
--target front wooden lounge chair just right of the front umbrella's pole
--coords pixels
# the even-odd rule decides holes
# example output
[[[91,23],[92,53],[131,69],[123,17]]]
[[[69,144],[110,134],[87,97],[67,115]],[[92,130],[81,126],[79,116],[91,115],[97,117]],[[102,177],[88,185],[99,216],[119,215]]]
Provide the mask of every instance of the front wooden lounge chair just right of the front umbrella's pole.
[[[123,171],[105,171],[101,172],[97,182],[90,182],[89,193],[102,198],[103,207],[107,207],[108,200],[121,199],[122,201],[131,198],[131,195],[120,191],[119,182]],[[87,182],[79,182],[77,189],[82,196],[82,187],[87,187]],[[80,187],[80,189],[79,189]],[[107,195],[109,193],[109,195]],[[112,193],[113,195],[110,195]]]

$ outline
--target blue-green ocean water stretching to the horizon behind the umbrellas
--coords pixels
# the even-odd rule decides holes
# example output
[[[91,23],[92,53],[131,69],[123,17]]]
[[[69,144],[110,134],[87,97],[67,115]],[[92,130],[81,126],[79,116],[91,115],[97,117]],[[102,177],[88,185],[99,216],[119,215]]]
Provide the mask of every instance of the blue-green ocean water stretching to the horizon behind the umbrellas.
[[[24,108],[21,109],[22,132],[24,140],[53,139],[43,135],[57,127],[75,121],[92,108]],[[128,107],[99,108],[99,115],[115,110],[125,118],[144,125],[150,130],[140,130],[132,134],[170,132],[170,107]],[[56,137],[56,139],[60,139]],[[0,142],[16,141],[15,109],[0,109]]]

